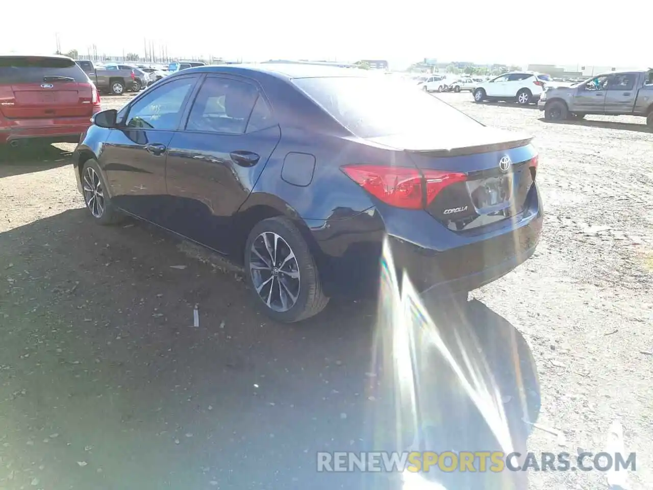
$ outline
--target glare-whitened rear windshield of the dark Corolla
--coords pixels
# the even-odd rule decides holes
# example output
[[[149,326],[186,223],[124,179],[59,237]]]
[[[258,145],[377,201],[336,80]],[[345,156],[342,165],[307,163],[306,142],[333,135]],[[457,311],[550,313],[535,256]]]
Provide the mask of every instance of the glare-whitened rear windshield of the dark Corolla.
[[[413,84],[388,78],[295,78],[296,86],[354,135],[460,131],[479,123]]]

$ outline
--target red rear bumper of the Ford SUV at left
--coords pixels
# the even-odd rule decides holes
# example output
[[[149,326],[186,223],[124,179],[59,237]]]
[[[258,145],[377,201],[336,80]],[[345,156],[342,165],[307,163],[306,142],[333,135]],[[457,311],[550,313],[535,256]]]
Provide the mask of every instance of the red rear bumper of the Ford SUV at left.
[[[101,109],[94,108],[94,112]],[[79,142],[91,125],[90,116],[54,119],[0,120],[0,144],[14,140],[48,139],[52,142]]]

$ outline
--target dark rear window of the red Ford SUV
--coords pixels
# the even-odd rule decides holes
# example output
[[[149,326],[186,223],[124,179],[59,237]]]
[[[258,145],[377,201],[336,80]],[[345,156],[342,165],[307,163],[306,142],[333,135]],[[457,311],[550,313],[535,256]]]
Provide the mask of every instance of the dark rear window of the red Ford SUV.
[[[89,79],[72,59],[0,56],[0,84],[52,81],[88,82]]]

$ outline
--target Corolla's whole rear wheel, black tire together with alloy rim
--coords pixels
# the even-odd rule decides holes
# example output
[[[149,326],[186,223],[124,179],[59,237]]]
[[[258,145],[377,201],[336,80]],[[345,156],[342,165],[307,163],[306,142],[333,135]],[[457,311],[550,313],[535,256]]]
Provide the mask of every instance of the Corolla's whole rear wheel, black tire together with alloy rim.
[[[270,318],[295,323],[327,306],[308,244],[285,216],[259,221],[249,232],[244,257],[249,289]]]

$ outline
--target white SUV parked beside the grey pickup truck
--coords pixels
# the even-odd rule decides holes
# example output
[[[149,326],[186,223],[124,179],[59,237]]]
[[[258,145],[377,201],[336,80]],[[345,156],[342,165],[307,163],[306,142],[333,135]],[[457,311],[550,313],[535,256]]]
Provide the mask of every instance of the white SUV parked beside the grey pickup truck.
[[[478,84],[473,91],[474,101],[517,101],[520,105],[537,102],[551,77],[534,71],[504,73]]]

